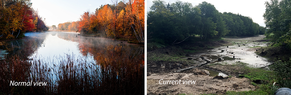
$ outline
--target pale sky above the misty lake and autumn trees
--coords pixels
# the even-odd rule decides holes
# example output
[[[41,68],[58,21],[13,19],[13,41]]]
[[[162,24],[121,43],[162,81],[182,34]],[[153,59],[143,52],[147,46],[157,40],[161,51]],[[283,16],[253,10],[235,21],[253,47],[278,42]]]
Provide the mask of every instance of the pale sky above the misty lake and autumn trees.
[[[38,14],[48,26],[77,21],[84,11],[95,12],[101,5],[111,4],[110,0],[31,0],[32,8],[38,9]]]

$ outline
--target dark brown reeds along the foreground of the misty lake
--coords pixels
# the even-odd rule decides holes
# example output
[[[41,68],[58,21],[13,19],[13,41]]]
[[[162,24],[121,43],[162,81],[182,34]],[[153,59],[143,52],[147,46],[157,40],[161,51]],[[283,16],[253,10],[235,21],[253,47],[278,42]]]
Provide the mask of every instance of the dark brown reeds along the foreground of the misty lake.
[[[11,56],[0,60],[0,94],[144,94],[143,49],[129,55],[104,50],[95,61],[66,54],[59,63]],[[47,82],[46,86],[10,86],[10,81]]]

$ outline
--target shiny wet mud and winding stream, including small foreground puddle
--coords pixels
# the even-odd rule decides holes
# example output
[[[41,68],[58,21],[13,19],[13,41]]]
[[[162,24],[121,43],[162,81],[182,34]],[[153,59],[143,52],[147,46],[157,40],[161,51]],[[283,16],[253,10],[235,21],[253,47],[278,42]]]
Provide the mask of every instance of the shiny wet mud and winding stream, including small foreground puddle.
[[[266,61],[267,59],[265,59],[261,56],[258,56],[257,54],[254,53],[257,49],[250,48],[256,44],[260,44],[263,46],[267,43],[260,43],[260,42],[258,42],[258,43],[254,43],[254,42],[250,42],[250,43],[243,42],[242,43],[242,42],[240,42],[240,43],[241,44],[244,43],[244,45],[240,46],[240,44],[238,43],[238,44],[231,45],[228,47],[222,47],[222,48],[218,48],[218,49],[208,50],[207,52],[186,54],[186,56],[188,56],[188,57],[200,58],[202,61],[201,64],[197,65],[197,66],[182,68],[182,69],[177,70],[176,72],[190,70],[190,69],[195,68],[195,67],[201,67],[203,65],[207,65],[210,63],[216,63],[216,62],[221,63],[221,64],[233,64],[236,62],[244,62],[244,63],[248,63],[252,67],[263,67],[265,65],[270,64]],[[224,61],[217,61],[219,57],[221,57],[221,58],[223,57],[222,60],[224,60]],[[224,59],[225,57],[227,59]],[[198,59],[198,60],[200,60],[200,59]],[[219,76],[223,76],[223,77],[226,76],[226,74],[223,74],[223,73],[220,74],[219,72],[215,72],[215,71],[212,71],[209,69],[205,69],[205,70],[210,72],[210,74],[211,74],[210,76],[212,76],[212,75],[213,76],[219,75]]]

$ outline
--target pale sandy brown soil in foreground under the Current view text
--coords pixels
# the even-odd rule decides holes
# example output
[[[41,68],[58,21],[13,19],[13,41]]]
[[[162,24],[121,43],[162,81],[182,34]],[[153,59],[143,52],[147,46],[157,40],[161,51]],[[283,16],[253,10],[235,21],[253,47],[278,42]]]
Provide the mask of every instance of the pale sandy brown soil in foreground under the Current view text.
[[[195,68],[181,73],[157,73],[147,76],[148,95],[177,94],[224,94],[227,91],[248,91],[256,89],[248,78],[207,76],[207,71]],[[163,79],[163,80],[161,80]],[[160,81],[161,80],[161,81]],[[180,81],[180,84],[163,84],[163,81]],[[182,81],[196,81],[183,84]],[[160,84],[159,83],[162,83]]]

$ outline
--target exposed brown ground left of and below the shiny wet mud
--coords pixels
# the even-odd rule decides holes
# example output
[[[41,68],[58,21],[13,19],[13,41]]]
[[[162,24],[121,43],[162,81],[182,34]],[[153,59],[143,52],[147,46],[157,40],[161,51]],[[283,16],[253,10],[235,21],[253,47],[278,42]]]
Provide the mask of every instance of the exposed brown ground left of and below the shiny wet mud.
[[[244,74],[243,65],[204,65],[203,68],[208,68],[217,72],[222,72],[233,77],[208,76],[208,71],[202,67],[192,68],[182,72],[176,72],[179,69],[191,66],[197,66],[205,63],[197,57],[187,60],[185,49],[195,52],[205,52],[215,47],[226,47],[233,45],[233,42],[240,43],[249,42],[248,44],[262,44],[269,41],[263,39],[264,36],[245,37],[239,39],[223,38],[227,41],[198,41],[198,42],[183,42],[180,45],[172,45],[166,48],[160,48],[147,52],[147,94],[148,95],[176,95],[176,94],[224,94],[227,91],[249,91],[255,90],[257,87],[251,84],[248,78],[237,78],[240,74]],[[230,43],[231,42],[231,43]],[[255,43],[256,42],[256,43]],[[265,45],[265,44],[264,44]],[[263,46],[263,45],[262,45]],[[257,48],[251,48],[253,51]],[[227,52],[227,51],[226,51]],[[189,52],[188,52],[189,53]],[[167,57],[181,57],[179,59],[170,59]],[[192,58],[192,57],[190,57]],[[195,59],[196,58],[196,59]],[[166,61],[165,61],[166,60]],[[191,62],[190,62],[191,61]],[[179,81],[181,84],[159,84],[159,81]],[[195,84],[182,84],[182,81],[196,81]]]

